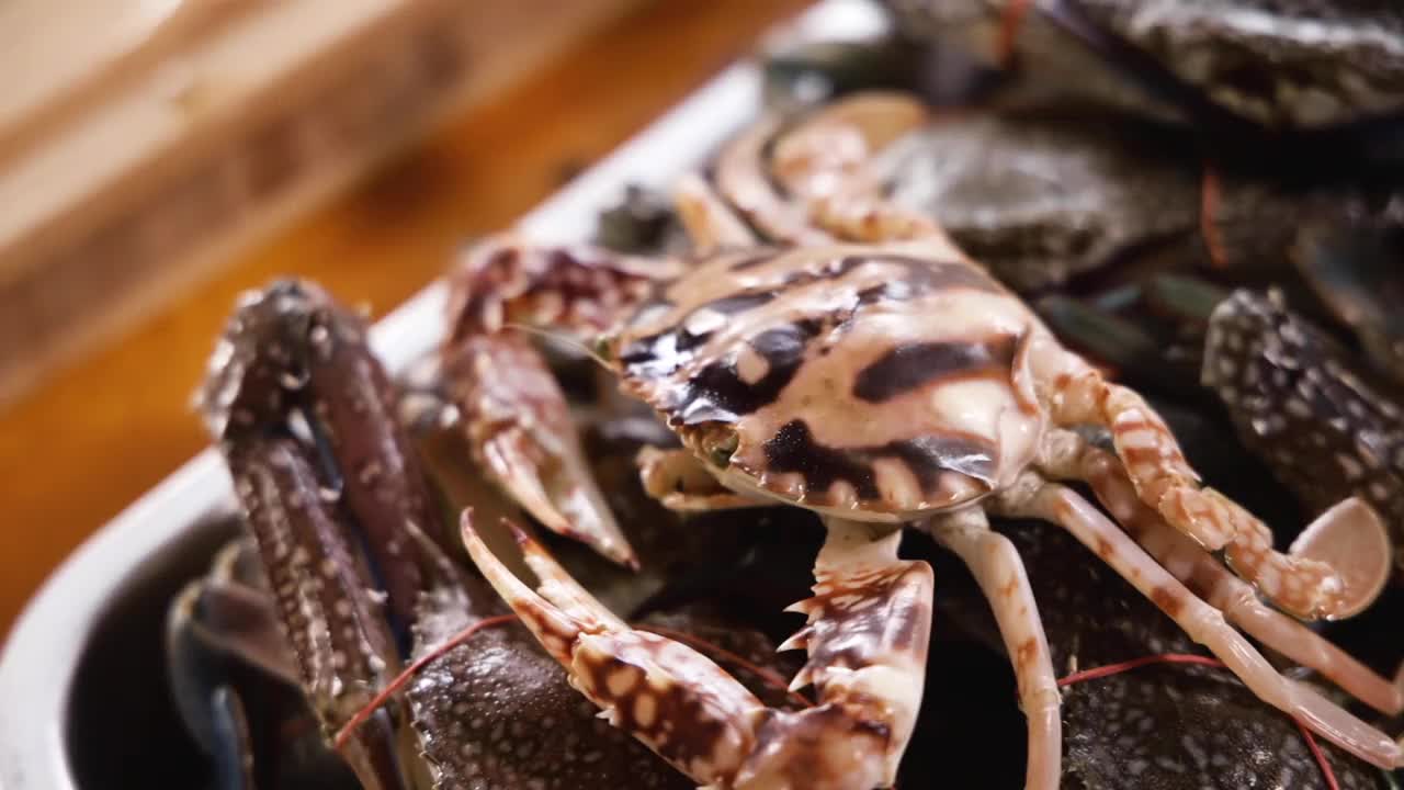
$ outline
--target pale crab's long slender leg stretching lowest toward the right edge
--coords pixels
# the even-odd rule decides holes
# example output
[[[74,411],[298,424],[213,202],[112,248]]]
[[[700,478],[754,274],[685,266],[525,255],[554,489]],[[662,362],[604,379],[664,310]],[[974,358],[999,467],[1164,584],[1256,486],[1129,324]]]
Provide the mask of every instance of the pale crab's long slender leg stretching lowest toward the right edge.
[[[1073,489],[1029,474],[1016,481],[995,506],[1009,516],[1043,519],[1073,533],[1154,602],[1189,638],[1207,647],[1262,701],[1297,717],[1313,732],[1372,765],[1383,769],[1401,765],[1398,744],[1306,685],[1278,673],[1217,609],[1185,589],[1130,536]]]

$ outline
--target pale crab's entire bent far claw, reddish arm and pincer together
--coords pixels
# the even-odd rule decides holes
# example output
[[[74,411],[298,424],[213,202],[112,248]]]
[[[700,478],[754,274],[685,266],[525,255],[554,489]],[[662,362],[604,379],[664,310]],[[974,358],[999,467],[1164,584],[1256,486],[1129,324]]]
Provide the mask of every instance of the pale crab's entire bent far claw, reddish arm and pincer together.
[[[621,298],[649,283],[588,250],[536,253],[475,246],[455,271],[444,377],[477,461],[546,529],[637,566],[590,475],[570,406],[545,360],[517,329],[600,328]]]

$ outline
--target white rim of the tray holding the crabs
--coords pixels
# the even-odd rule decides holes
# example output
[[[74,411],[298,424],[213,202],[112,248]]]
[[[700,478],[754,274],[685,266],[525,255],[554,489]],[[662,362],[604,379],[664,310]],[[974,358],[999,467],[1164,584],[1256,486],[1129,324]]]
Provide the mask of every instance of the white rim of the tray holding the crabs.
[[[767,38],[870,35],[882,20],[868,0],[821,0]],[[665,190],[671,179],[754,119],[764,76],[744,56],[625,141],[574,181],[524,214],[515,228],[549,242],[585,239],[598,209],[628,184]],[[371,347],[399,375],[441,337],[446,287],[435,280],[371,328]],[[192,417],[194,419],[194,417]],[[0,652],[0,789],[74,789],[65,745],[70,682],[112,593],[188,531],[232,509],[227,471],[206,447],[100,527],[45,579]]]

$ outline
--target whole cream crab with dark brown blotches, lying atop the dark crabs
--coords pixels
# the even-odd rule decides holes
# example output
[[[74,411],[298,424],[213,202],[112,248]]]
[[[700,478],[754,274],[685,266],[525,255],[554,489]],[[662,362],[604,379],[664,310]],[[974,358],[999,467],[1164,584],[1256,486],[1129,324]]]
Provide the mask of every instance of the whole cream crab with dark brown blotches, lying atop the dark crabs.
[[[814,596],[793,607],[807,624],[783,645],[807,649],[795,686],[813,685],[819,701],[781,711],[703,655],[622,623],[521,536],[534,592],[465,513],[472,559],[576,689],[709,787],[889,787],[922,696],[931,626],[932,571],[897,554],[913,526],[958,554],[988,597],[1029,723],[1028,787],[1057,787],[1060,697],[1047,641],[1019,555],[987,526],[995,513],[1066,529],[1268,704],[1375,765],[1398,765],[1394,741],[1279,675],[1226,621],[1376,707],[1404,707],[1398,689],[1258,597],[1300,619],[1362,610],[1380,589],[1373,552],[1389,544],[1375,512],[1345,500],[1307,527],[1311,540],[1276,551],[1262,522],[1200,485],[1136,392],[1064,349],[936,225],[823,188],[840,183],[838,143],[863,143],[834,131],[834,146],[792,162],[804,170],[797,180],[817,186],[807,201],[722,179],[723,201],[702,179],[685,179],[678,209],[692,257],[498,238],[469,250],[455,273],[445,350],[470,349],[479,370],[497,373],[482,377],[491,387],[511,387],[512,368],[493,360],[517,343],[515,329],[588,336],[621,389],[681,440],[640,455],[646,486],[665,505],[797,506],[828,530]],[[747,156],[754,139],[743,135],[723,157]],[[751,225],[795,235],[762,243],[727,204]],[[462,396],[472,416],[480,401]],[[498,439],[496,472],[548,492],[548,505],[550,491],[588,485],[571,478],[569,426],[538,409],[550,401],[500,401],[517,408],[494,412],[483,434]],[[1109,430],[1115,451],[1074,430],[1085,426]],[[1067,482],[1090,484],[1116,519],[1134,520],[1134,540]],[[580,524],[562,529],[573,530]],[[609,545],[611,536],[601,526],[580,537]]]

